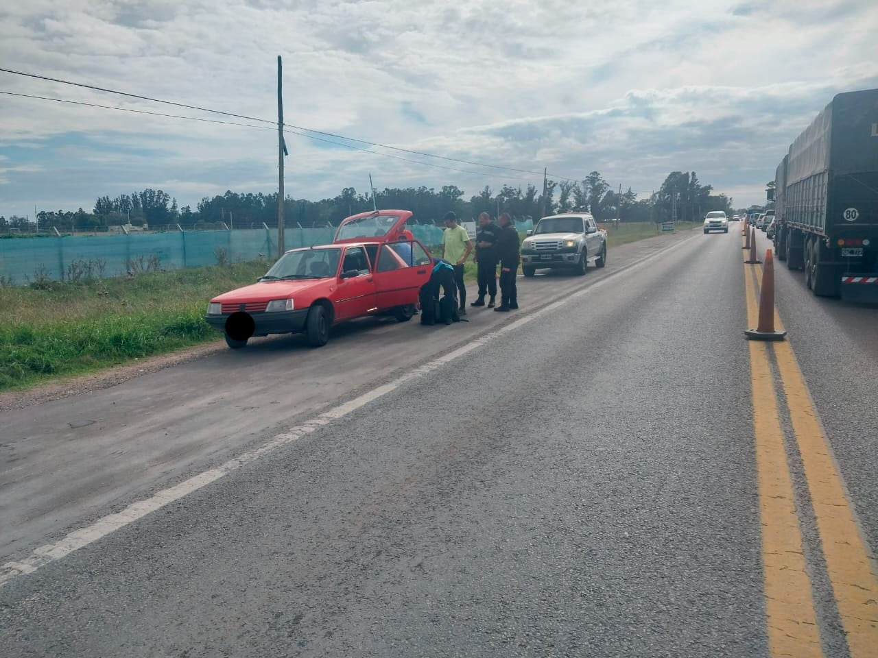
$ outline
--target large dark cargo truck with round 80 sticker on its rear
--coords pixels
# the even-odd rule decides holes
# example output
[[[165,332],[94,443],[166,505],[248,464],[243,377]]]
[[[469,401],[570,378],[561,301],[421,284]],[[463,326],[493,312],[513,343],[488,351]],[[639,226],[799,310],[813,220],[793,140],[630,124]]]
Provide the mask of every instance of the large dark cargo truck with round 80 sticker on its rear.
[[[838,94],[774,174],[774,251],[815,295],[878,303],[878,89]]]

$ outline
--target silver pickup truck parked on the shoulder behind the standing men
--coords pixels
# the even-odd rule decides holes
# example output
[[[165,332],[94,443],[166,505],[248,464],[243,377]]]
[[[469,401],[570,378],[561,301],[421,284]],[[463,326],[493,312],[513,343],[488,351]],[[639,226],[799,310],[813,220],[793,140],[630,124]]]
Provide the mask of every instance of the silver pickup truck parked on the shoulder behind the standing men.
[[[589,262],[596,268],[607,264],[607,233],[587,212],[544,217],[522,242],[525,276],[542,268],[572,269],[583,275]]]

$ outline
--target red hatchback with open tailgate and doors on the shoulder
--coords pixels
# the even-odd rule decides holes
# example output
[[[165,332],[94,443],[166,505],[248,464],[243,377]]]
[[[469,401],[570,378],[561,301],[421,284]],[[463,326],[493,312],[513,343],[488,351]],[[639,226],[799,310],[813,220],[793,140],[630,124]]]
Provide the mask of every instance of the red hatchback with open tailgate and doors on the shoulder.
[[[406,322],[418,307],[433,259],[405,232],[410,211],[345,219],[333,244],[286,252],[257,283],[213,297],[205,319],[244,347],[254,336],[305,333],[314,347],[347,320],[390,315]]]

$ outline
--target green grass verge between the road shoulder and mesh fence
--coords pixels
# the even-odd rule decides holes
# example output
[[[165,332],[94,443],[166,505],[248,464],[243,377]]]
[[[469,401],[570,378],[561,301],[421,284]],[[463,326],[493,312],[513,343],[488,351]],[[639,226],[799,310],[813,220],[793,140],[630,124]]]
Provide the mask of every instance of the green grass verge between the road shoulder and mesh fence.
[[[678,224],[677,230],[694,226],[700,224]],[[657,234],[652,224],[606,228],[610,249]],[[442,254],[441,248],[432,251]],[[250,261],[119,278],[101,278],[90,271],[78,283],[38,278],[29,286],[11,286],[0,281],[0,308],[5,311],[0,324],[0,390],[215,340],[219,335],[204,320],[207,301],[255,282],[270,264]],[[464,279],[475,282],[475,263],[466,263]]]

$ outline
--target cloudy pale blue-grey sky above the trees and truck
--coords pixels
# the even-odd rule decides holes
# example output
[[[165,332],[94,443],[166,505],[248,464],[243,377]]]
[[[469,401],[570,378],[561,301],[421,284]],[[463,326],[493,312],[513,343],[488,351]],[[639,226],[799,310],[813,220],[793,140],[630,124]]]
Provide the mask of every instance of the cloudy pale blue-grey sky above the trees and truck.
[[[280,54],[288,124],[558,176],[597,169],[647,194],[694,169],[738,205],[764,198],[833,94],[878,87],[874,0],[0,0],[0,25],[4,68],[274,119]],[[223,119],[7,73],[0,91]],[[379,190],[467,195],[541,178],[287,140],[297,198],[368,190],[370,172]],[[144,187],[194,206],[276,186],[270,126],[0,95],[0,215]]]

